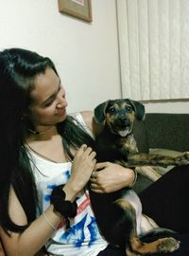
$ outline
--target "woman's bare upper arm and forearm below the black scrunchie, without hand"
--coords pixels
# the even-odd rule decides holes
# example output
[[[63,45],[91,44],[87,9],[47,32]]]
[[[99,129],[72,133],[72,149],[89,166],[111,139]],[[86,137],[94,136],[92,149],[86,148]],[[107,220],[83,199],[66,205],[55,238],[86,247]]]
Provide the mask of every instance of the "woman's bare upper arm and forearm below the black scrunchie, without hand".
[[[9,214],[10,218],[17,225],[26,225],[26,214],[23,210],[15,192],[11,189],[9,194]],[[57,228],[61,216],[53,211],[50,206],[45,211],[45,216],[49,222]],[[22,233],[11,232],[7,234],[1,229],[1,239],[8,256],[33,256],[48,241],[55,230],[45,221],[43,215],[31,223]]]

